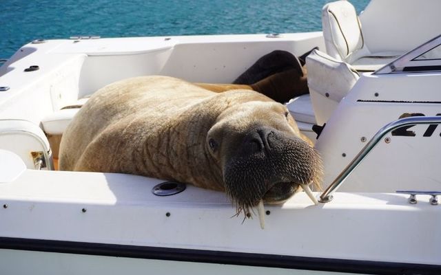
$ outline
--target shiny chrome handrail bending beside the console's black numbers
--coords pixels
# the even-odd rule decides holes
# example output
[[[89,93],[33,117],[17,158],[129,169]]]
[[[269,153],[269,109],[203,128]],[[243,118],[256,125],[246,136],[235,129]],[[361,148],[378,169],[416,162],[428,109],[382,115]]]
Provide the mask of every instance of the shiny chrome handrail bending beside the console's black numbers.
[[[336,190],[341,186],[343,181],[347,179],[349,175],[353,172],[353,170],[365,159],[365,157],[372,151],[372,149],[378,144],[380,140],[382,140],[382,137],[386,135],[387,133],[401,128],[403,126],[409,126],[409,125],[416,125],[416,124],[441,124],[441,116],[413,116],[410,118],[401,118],[400,120],[396,120],[393,122],[390,122],[389,124],[385,125],[374,135],[371,140],[366,144],[365,147],[363,147],[352,159],[351,162],[345,167],[345,169],[342,170],[340,175],[332,181],[332,183],[326,188],[325,191],[322,192],[322,195],[320,195],[320,201],[321,203],[327,203],[332,200],[332,194],[336,192]]]

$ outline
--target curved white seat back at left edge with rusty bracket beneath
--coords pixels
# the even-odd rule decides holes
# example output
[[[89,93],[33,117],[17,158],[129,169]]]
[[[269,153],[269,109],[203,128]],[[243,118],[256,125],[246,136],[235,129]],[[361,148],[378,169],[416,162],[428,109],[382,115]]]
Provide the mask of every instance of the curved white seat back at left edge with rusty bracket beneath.
[[[18,155],[28,169],[35,169],[38,159],[43,160],[42,167],[52,169],[48,138],[28,120],[0,120],[0,149]]]

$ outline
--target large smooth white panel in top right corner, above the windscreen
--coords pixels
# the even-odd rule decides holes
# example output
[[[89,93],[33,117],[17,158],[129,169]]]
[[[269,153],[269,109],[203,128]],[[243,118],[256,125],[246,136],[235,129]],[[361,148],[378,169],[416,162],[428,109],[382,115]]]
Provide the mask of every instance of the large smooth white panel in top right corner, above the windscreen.
[[[440,0],[371,0],[360,14],[372,55],[404,54],[440,34]]]

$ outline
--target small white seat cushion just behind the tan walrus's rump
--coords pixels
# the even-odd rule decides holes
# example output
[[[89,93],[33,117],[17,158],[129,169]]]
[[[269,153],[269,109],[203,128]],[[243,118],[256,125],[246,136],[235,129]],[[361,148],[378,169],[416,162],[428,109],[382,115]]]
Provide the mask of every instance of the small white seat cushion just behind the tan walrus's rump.
[[[61,135],[68,127],[74,115],[79,111],[79,108],[61,109],[41,120],[43,130],[50,135]]]

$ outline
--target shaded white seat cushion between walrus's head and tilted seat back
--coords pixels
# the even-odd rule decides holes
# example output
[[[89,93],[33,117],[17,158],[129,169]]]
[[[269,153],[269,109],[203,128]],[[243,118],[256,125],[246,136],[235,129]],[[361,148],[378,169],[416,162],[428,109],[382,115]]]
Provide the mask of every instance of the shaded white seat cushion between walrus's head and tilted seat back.
[[[289,113],[291,113],[296,120],[298,129],[314,142],[317,135],[312,131],[312,126],[317,123],[309,94],[293,98],[289,100],[286,105]]]

